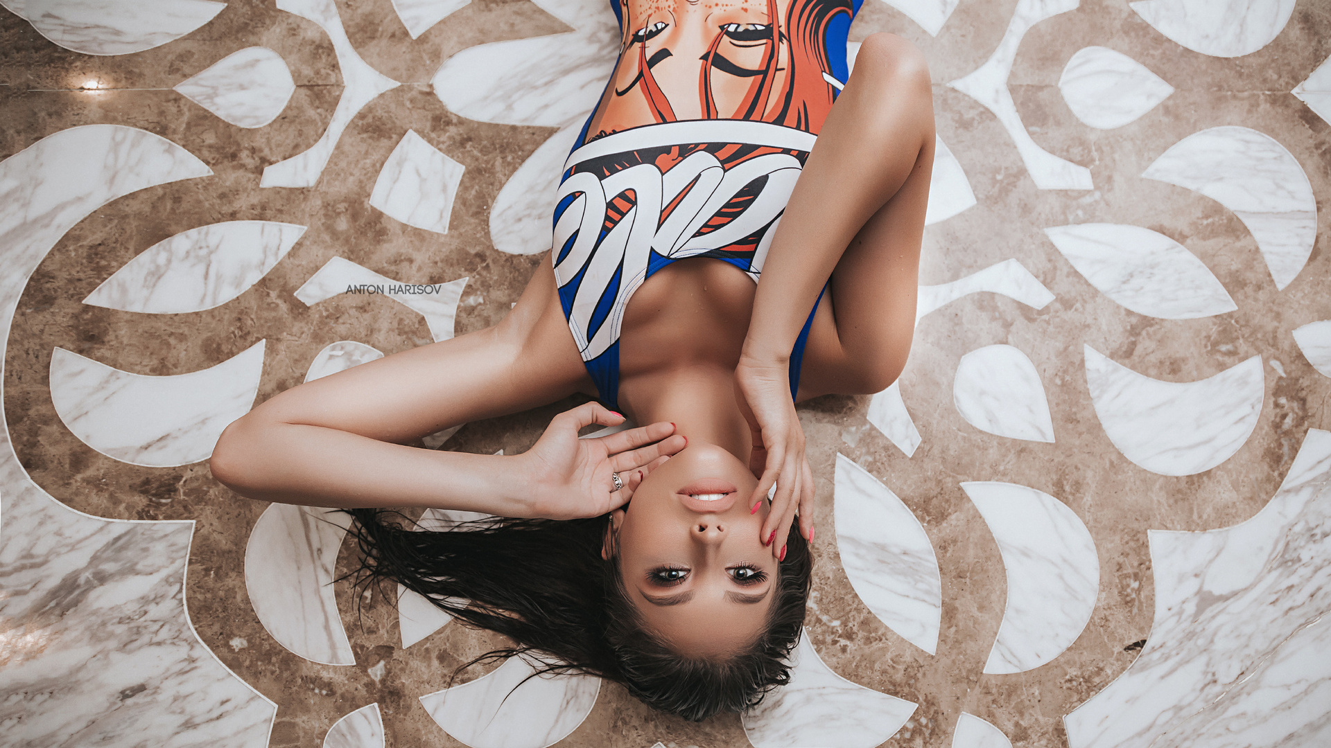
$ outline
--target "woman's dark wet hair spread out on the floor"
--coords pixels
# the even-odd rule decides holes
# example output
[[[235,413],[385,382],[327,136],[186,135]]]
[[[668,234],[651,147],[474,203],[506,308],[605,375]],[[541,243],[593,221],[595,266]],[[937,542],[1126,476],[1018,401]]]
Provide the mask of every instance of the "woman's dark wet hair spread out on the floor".
[[[610,518],[556,522],[492,518],[453,531],[417,531],[401,512],[346,510],[362,564],[358,583],[393,580],[451,616],[502,634],[512,647],[463,664],[528,655],[538,672],[582,672],[623,684],[644,704],[699,721],[756,705],[789,683],[812,556],[791,532],[767,626],[731,657],[688,657],[646,627],[628,599],[618,554],[603,560]],[[457,672],[454,673],[457,675]]]

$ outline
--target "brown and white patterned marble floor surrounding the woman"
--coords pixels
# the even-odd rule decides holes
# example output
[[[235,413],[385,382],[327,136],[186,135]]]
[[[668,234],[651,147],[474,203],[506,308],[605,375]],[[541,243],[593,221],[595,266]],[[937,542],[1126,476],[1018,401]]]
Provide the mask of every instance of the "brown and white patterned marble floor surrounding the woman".
[[[700,724],[510,696],[522,660],[450,688],[492,635],[206,466],[256,402],[504,315],[604,1],[0,5],[0,743],[1331,744],[1331,4],[865,0],[852,40],[934,81],[914,347],[800,407],[796,675]]]

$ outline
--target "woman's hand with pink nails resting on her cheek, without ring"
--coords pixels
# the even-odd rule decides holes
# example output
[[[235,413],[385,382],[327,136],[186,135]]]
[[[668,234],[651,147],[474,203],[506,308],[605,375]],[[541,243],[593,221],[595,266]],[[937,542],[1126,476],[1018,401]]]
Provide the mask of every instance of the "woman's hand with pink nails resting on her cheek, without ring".
[[[781,559],[796,511],[800,534],[808,539],[813,536],[813,472],[804,455],[804,429],[791,398],[789,366],[757,363],[741,357],[735,382],[740,409],[753,433],[749,468],[759,476],[749,507],[756,511],[759,502],[776,486],[772,511],[763,523],[760,540]]]

